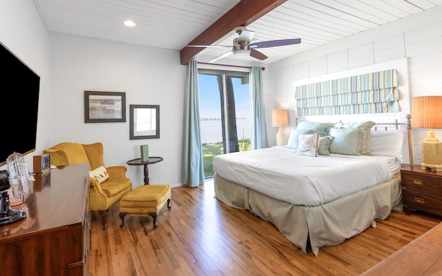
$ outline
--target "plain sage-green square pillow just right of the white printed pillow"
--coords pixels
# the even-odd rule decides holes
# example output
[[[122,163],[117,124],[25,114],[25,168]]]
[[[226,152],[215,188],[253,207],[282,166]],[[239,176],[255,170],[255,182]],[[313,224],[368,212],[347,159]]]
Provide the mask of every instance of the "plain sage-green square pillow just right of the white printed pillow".
[[[359,128],[332,128],[329,151],[340,155],[360,155],[358,150]]]

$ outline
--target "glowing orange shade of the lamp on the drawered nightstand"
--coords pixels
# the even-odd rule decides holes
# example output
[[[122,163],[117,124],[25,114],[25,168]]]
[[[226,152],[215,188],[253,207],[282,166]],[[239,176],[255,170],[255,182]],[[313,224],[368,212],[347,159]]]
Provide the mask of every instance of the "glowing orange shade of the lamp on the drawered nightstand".
[[[412,128],[442,128],[442,96],[413,98]]]

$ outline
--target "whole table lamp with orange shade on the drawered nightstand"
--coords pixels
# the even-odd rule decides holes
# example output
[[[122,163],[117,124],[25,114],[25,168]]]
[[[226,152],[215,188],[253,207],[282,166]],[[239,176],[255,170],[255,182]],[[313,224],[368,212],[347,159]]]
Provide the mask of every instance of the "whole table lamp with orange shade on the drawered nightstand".
[[[421,169],[442,171],[442,143],[433,130],[442,128],[442,96],[413,97],[412,128],[429,128],[422,142]]]

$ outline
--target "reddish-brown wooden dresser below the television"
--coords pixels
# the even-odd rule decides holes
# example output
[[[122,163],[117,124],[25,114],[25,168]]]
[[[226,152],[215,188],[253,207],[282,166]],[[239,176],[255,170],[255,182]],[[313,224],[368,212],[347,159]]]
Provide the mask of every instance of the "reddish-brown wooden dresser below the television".
[[[0,226],[1,275],[88,275],[89,164],[36,175],[30,197],[12,206],[26,218]]]

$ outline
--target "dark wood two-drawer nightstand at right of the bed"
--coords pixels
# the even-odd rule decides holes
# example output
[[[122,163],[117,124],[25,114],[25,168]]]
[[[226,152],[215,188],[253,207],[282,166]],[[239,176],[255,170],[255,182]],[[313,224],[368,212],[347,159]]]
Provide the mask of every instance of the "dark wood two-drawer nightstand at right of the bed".
[[[442,215],[442,172],[406,166],[401,169],[401,185],[404,213],[421,210]]]

